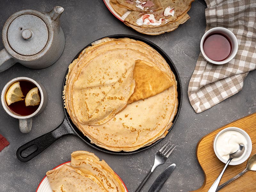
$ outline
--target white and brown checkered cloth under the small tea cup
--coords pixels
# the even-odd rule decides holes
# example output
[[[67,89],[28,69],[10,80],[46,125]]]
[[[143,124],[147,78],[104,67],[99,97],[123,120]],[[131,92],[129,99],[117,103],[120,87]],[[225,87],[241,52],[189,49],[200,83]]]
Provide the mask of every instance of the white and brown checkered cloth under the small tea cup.
[[[256,0],[205,0],[206,30],[225,27],[238,41],[234,59],[224,65],[200,53],[188,85],[188,97],[200,113],[239,92],[249,71],[256,69]]]

